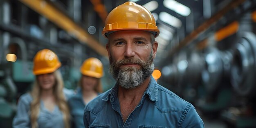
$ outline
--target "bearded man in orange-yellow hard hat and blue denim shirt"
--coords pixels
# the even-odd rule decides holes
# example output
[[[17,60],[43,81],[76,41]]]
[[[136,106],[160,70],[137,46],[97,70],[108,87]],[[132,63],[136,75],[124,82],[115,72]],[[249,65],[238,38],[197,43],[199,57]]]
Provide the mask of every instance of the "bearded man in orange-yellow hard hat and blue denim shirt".
[[[119,5],[102,34],[117,83],[85,107],[85,128],[204,128],[191,103],[151,76],[159,29],[147,9],[134,2]]]

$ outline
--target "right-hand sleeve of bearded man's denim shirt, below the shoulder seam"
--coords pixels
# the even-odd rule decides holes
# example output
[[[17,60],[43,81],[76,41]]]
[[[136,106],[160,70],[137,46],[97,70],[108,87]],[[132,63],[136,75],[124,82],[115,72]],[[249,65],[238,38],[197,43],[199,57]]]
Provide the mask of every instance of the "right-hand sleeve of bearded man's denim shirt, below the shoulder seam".
[[[204,122],[193,105],[189,108],[186,117],[184,118],[182,128],[204,128]]]

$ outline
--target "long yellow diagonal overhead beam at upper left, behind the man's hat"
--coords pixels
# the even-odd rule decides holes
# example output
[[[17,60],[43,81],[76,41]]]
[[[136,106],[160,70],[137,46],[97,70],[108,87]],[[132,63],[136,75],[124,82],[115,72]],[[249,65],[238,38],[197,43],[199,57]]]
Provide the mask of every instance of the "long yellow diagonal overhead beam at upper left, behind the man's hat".
[[[66,16],[59,9],[54,7],[47,0],[20,0],[22,3],[33,9],[34,11],[45,16],[58,27],[72,34],[81,43],[87,44],[102,56],[108,57],[108,52],[97,40],[90,36],[83,28],[77,25],[72,19]]]

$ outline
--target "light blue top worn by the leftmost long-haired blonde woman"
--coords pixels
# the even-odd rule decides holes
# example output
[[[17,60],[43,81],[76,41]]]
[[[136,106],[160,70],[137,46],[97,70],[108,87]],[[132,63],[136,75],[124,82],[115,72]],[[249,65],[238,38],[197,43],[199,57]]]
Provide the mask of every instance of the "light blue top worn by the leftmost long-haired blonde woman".
[[[65,94],[66,97],[67,94]],[[17,106],[17,113],[13,119],[13,128],[31,128],[30,122],[30,104],[32,97],[29,93],[23,94]],[[54,110],[50,112],[40,101],[40,112],[37,119],[38,128],[64,128],[63,115],[58,106],[54,106]]]

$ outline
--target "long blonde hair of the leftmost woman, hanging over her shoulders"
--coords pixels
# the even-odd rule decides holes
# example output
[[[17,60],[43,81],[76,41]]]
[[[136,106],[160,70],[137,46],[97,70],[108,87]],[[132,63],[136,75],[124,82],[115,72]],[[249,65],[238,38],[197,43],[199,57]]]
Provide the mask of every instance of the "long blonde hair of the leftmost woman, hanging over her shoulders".
[[[54,76],[56,78],[56,83],[54,85],[54,97],[56,98],[56,104],[58,105],[58,108],[61,110],[63,113],[63,120],[65,124],[65,128],[70,128],[70,111],[67,106],[65,96],[63,93],[63,79],[61,76],[61,72],[56,70],[54,72]],[[40,111],[40,85],[38,84],[38,80],[34,82],[34,87],[33,90],[31,91],[31,96],[33,98],[33,101],[31,102],[30,105],[30,119],[31,119],[31,127],[32,128],[38,128],[38,115]]]

